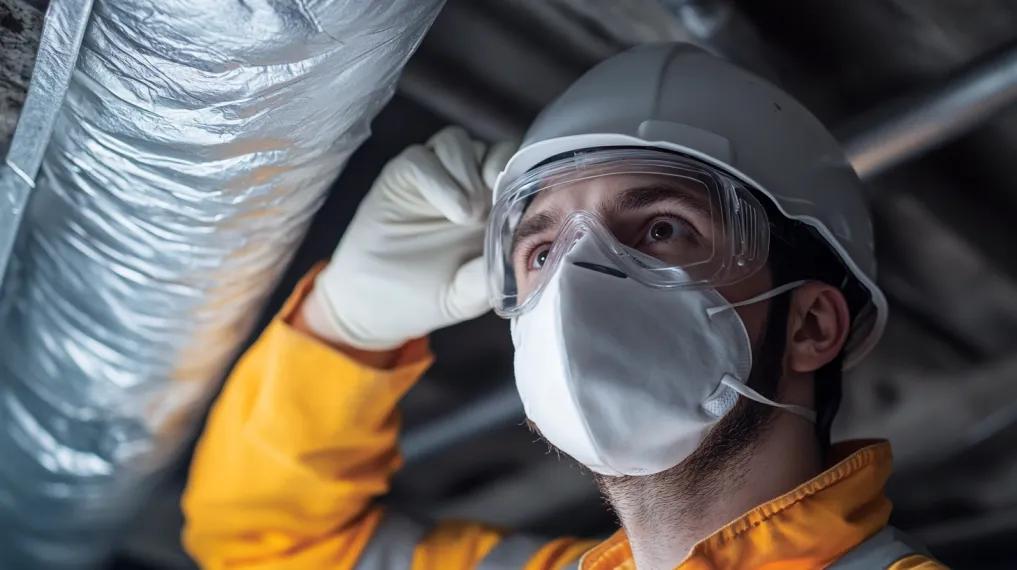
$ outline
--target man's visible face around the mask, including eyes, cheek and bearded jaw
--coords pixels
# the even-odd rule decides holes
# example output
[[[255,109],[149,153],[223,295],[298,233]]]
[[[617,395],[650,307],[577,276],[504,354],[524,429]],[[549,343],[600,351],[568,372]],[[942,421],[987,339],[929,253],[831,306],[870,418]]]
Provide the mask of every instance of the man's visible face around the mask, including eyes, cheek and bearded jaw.
[[[659,174],[613,174],[590,178],[551,191],[541,191],[527,208],[517,226],[512,265],[521,298],[540,282],[542,265],[552,242],[578,211],[595,214],[622,244],[652,255],[668,266],[685,268],[691,275],[709,275],[715,251],[724,249],[725,232],[716,231],[719,207],[701,181]],[[764,268],[733,285],[717,288],[729,302],[737,302],[771,288],[770,271]],[[683,294],[675,291],[674,294]],[[736,310],[752,340],[754,361],[751,385],[765,391],[776,387],[780,357],[760,358],[767,332],[769,302],[753,303]],[[677,335],[675,341],[677,342]],[[741,400],[710,433],[686,460],[649,477],[666,487],[684,486],[689,494],[707,493],[709,482],[725,466],[743,456],[766,430],[770,409]],[[539,434],[539,428],[530,423]],[[631,480],[643,477],[595,479],[612,503],[624,496]],[[648,479],[649,480],[649,479]]]

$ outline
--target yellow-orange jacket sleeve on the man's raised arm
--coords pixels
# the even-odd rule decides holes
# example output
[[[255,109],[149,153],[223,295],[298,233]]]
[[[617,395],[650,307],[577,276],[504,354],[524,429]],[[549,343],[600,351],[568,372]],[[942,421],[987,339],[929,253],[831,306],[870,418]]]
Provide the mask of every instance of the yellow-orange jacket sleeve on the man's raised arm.
[[[396,406],[430,364],[426,341],[376,370],[292,329],[311,277],[237,364],[195,452],[183,540],[203,568],[352,568],[401,465]]]

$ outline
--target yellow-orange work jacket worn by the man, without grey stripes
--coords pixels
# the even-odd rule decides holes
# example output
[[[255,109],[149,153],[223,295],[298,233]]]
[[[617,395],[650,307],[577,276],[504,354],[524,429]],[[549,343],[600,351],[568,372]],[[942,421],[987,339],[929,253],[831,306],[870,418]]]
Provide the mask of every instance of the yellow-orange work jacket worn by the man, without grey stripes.
[[[431,356],[426,341],[414,341],[395,368],[375,370],[292,329],[288,318],[309,287],[306,278],[240,360],[208,417],[183,499],[191,556],[210,569],[346,570],[361,556],[397,556],[398,545],[372,547],[372,537],[403,532],[414,570],[456,570],[519,540],[468,522],[386,529],[398,519],[374,499],[401,465],[396,406]],[[822,568],[876,533],[890,515],[890,447],[841,450],[844,459],[707,537],[679,568]],[[635,568],[621,531],[599,545],[548,542],[524,567],[575,567],[580,557],[583,570]],[[892,568],[942,566],[915,555]]]

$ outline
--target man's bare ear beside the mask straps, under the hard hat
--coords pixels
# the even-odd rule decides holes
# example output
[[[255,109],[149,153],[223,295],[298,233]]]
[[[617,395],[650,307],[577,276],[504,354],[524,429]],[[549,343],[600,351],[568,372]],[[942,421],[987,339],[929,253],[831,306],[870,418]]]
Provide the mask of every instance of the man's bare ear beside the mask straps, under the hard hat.
[[[820,281],[794,290],[787,323],[787,363],[814,373],[833,360],[847,341],[851,317],[844,294]]]

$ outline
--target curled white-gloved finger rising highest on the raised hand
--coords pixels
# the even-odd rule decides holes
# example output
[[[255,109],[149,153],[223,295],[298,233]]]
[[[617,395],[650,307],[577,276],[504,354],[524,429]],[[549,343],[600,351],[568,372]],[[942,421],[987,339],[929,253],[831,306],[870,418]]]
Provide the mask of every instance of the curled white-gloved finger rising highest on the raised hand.
[[[490,190],[480,173],[480,158],[486,146],[473,140],[462,127],[451,126],[438,131],[427,141],[445,171],[465,192],[470,204],[472,221],[483,221],[490,205]]]

